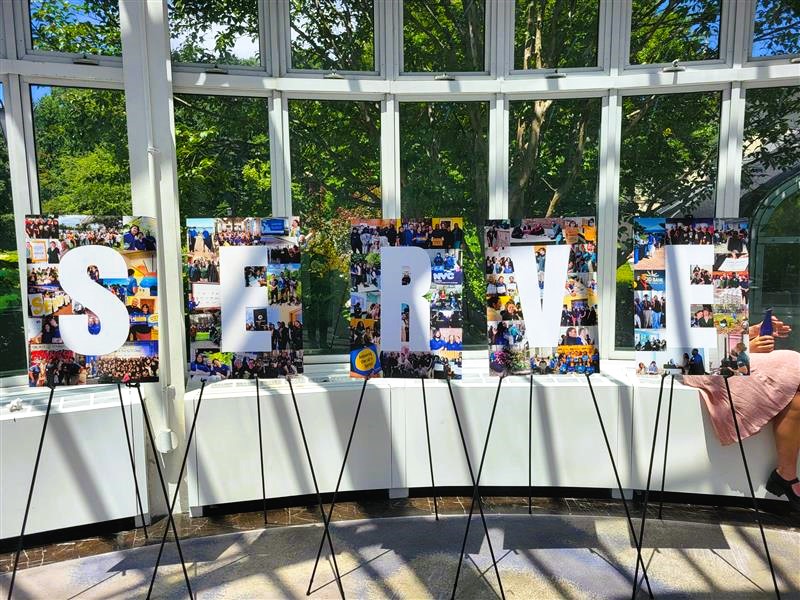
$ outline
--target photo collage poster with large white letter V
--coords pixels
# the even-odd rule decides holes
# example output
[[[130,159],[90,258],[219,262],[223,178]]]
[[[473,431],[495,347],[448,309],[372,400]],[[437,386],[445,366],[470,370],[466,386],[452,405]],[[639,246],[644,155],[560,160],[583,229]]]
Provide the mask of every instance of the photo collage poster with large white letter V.
[[[484,235],[490,373],[598,372],[595,218],[489,220]],[[548,278],[555,246],[563,262]]]

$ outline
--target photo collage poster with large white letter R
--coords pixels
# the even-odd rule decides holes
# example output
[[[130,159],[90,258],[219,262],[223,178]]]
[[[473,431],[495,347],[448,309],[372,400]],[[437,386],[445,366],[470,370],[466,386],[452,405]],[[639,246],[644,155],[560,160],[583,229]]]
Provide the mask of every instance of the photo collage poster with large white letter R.
[[[351,222],[352,377],[461,378],[463,247],[460,217]]]

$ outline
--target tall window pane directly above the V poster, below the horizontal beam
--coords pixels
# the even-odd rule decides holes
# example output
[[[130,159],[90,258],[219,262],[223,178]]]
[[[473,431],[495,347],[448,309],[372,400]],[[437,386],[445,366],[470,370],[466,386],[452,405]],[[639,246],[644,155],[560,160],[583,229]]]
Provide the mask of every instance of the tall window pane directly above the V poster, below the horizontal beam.
[[[600,98],[510,103],[509,215],[593,215]]]

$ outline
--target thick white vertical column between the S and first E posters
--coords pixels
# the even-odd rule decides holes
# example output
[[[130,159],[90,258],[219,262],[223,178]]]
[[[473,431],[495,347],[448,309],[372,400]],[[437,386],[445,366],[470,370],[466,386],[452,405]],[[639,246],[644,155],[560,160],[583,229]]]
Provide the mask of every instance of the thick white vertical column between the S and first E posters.
[[[160,386],[145,386],[172,487],[183,449],[185,339],[172,66],[166,4],[121,0],[120,27],[133,212],[158,219]],[[158,457],[157,457],[158,459]],[[161,500],[156,495],[156,500]],[[183,502],[183,500],[182,500]],[[163,507],[162,507],[163,508]]]

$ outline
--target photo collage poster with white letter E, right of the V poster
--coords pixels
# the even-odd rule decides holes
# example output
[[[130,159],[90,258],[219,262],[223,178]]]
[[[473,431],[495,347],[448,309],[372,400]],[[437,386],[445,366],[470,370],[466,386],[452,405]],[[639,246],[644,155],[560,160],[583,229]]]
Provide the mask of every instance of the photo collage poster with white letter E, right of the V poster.
[[[747,219],[634,221],[637,374],[749,375]]]

